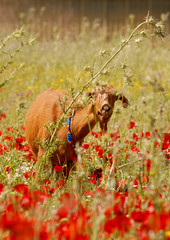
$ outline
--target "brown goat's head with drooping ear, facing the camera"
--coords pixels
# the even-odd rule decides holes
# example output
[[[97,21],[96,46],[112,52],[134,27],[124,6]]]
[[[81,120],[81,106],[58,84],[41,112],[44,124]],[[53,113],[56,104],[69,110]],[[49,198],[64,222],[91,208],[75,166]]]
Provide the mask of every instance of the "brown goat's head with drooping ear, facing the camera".
[[[107,131],[107,123],[113,113],[115,101],[121,100],[124,108],[128,106],[127,98],[122,94],[117,94],[111,85],[97,86],[90,92],[90,96],[95,100],[95,111],[100,127],[103,132]]]

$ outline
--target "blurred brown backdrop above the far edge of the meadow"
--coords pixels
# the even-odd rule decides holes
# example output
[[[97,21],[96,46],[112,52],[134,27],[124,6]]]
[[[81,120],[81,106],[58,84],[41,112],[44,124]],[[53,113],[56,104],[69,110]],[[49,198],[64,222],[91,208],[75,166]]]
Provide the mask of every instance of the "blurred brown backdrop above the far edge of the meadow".
[[[147,13],[161,19],[170,32],[170,0],[0,0],[1,34],[24,25],[40,41],[75,36],[83,31],[126,32]]]

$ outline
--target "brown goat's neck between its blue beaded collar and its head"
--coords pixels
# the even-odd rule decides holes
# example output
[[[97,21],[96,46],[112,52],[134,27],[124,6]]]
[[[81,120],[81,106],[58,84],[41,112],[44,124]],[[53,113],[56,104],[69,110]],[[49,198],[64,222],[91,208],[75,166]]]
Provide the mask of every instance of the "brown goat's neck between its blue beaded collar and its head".
[[[81,141],[95,126],[97,117],[94,108],[94,105],[89,103],[87,107],[80,107],[75,111],[72,120],[72,132],[76,141]]]

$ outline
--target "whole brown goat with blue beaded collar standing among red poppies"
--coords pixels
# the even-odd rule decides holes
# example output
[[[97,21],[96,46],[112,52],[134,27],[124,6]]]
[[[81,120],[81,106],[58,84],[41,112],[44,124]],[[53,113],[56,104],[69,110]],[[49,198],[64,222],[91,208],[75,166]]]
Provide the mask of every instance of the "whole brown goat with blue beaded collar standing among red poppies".
[[[67,124],[62,125],[56,131],[55,136],[65,144],[61,144],[51,156],[53,166],[63,165],[64,163],[69,164],[71,156],[76,157],[73,144],[82,142],[97,121],[100,123],[101,130],[103,132],[107,131],[107,123],[112,115],[116,100],[121,100],[125,108],[128,105],[125,96],[117,95],[111,85],[97,86],[95,90],[88,93],[88,96],[93,100],[89,101],[87,106],[84,107],[77,103],[73,106],[74,116],[71,121],[72,145],[67,140]],[[26,139],[36,158],[42,157],[44,151],[35,140],[38,139],[42,143],[43,140],[50,139],[50,133],[45,126],[51,122],[55,124],[60,119],[63,114],[61,101],[64,101],[64,99],[67,99],[65,105],[68,106],[71,97],[67,93],[49,89],[40,93],[28,110],[25,121]]]

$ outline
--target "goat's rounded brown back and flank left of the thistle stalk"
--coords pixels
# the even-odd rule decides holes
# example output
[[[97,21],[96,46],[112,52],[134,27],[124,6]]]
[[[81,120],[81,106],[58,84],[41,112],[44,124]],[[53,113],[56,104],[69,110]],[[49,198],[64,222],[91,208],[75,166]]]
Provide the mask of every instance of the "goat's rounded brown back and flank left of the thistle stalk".
[[[55,123],[61,117],[63,114],[61,103],[64,102],[65,96],[67,96],[65,104],[68,105],[70,97],[66,92],[49,89],[36,97],[27,112],[25,134],[28,144],[36,157],[39,145],[35,140],[38,139],[42,142],[43,139],[49,137],[49,132],[45,126],[51,122]]]

